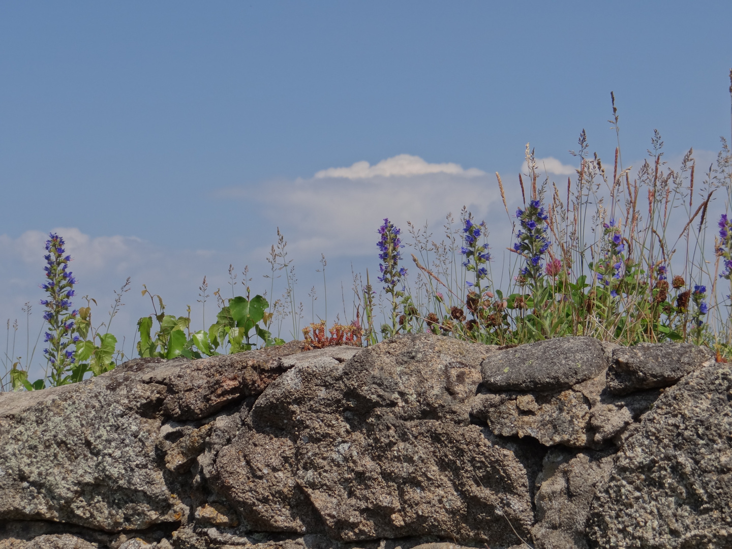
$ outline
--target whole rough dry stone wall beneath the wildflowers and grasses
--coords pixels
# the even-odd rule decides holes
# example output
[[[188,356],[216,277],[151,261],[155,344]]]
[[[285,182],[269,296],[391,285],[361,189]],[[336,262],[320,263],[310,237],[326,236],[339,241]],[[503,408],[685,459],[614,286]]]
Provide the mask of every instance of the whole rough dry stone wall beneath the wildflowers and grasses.
[[[732,546],[706,348],[433,335],[0,395],[0,549]]]

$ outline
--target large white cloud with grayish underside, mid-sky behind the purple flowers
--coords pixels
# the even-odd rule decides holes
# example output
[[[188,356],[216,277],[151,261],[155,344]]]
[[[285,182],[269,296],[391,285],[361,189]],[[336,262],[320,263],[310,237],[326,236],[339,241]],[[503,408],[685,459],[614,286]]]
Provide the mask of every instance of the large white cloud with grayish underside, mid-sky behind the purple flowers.
[[[345,181],[344,179],[350,180]],[[509,207],[518,197],[518,184],[504,179]],[[376,165],[356,163],[350,168],[318,171],[312,179],[261,185],[257,200],[264,213],[283,231],[291,253],[300,258],[374,255],[378,228],[385,217],[407,234],[407,222],[421,227],[427,221],[435,239],[447,214],[459,223],[466,206],[489,230],[504,231],[510,221],[504,212],[496,176],[455,163],[430,164],[400,154]],[[229,198],[251,199],[245,189],[220,190]],[[266,250],[258,252],[263,255]]]

